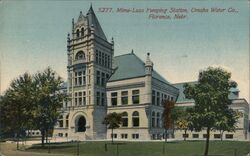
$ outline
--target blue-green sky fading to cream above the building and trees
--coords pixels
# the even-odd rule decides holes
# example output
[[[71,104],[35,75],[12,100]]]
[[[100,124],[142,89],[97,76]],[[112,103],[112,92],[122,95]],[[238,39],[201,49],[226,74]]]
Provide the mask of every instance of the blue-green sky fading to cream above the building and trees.
[[[196,81],[200,70],[223,67],[238,83],[240,97],[249,100],[249,2],[241,1],[7,1],[0,0],[0,93],[24,72],[31,74],[52,67],[67,79],[67,33],[72,18],[86,14],[90,4],[110,41],[115,55],[134,53],[142,60],[151,53],[154,70],[171,83]],[[101,12],[101,8],[112,8]],[[118,8],[144,9],[121,13]],[[152,19],[147,9],[187,9]],[[209,12],[191,12],[192,8]],[[225,8],[212,13],[211,8]],[[232,8],[236,12],[228,12]],[[231,10],[232,10],[231,9]]]

